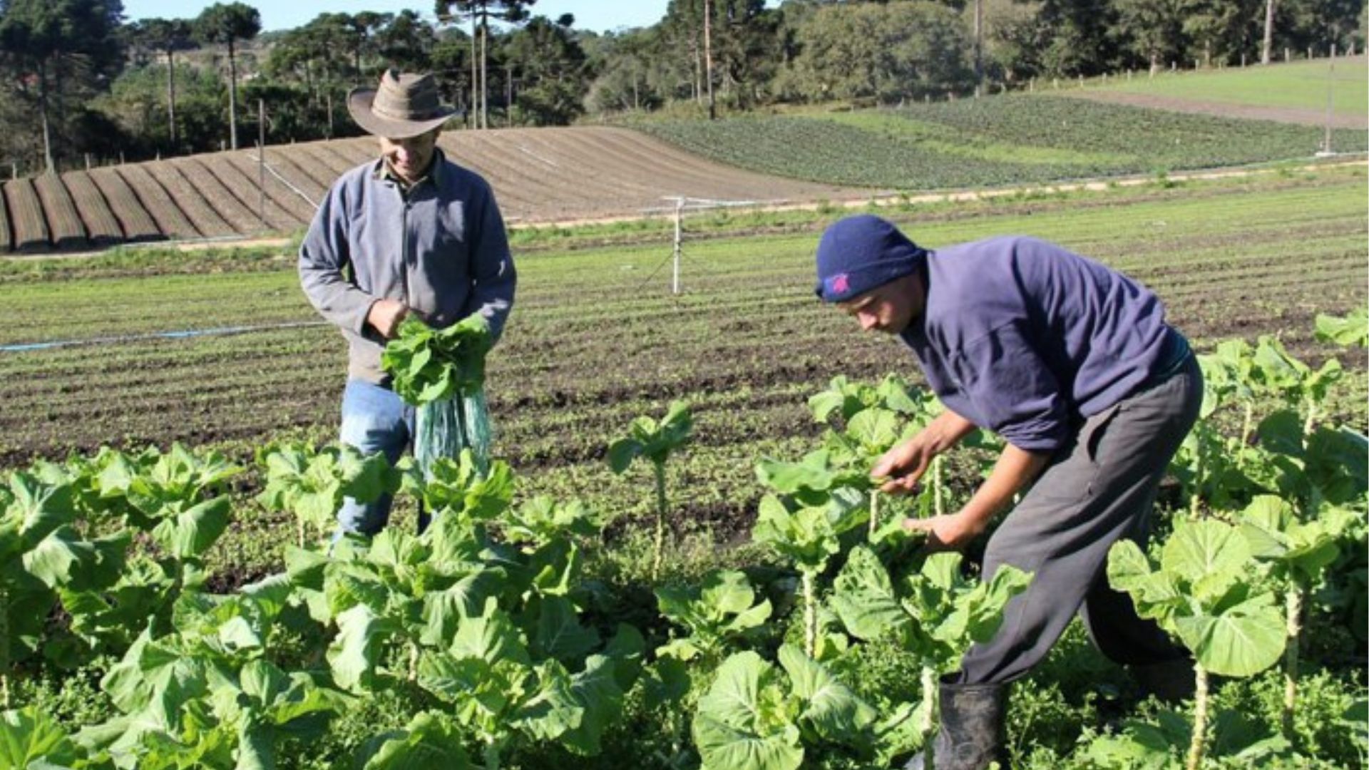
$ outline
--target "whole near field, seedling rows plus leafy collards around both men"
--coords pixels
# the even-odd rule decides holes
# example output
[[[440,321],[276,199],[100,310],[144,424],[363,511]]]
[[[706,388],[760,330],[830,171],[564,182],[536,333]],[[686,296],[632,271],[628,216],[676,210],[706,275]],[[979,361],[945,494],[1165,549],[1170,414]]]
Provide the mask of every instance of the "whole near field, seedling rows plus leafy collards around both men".
[[[1183,767],[1192,745],[1202,767],[1365,766],[1366,362],[1316,329],[1369,301],[1366,181],[1324,166],[879,211],[930,248],[1019,233],[1114,266],[1232,377],[1161,490],[1164,558],[1109,566],[1123,584],[1168,581],[1186,601],[1168,617],[1210,621],[1217,641],[1195,645],[1195,675],[1223,677],[1210,703],[1146,700],[1076,623],[1016,686],[1013,767]],[[368,548],[307,523],[322,506],[327,529],[344,482],[398,480],[292,444],[335,437],[345,377],[292,255],[0,263],[0,699],[19,708],[0,719],[0,759],[901,766],[934,726],[925,682],[993,633],[1025,577],[979,591],[982,544],[928,556],[897,526],[964,501],[984,449],[879,503],[883,519],[868,490],[815,503],[816,486],[786,489],[763,463],[849,445],[834,436],[865,408],[901,426],[934,410],[910,406],[906,349],[813,297],[813,249],[838,215],[694,215],[678,296],[658,225],[515,234],[517,301],[485,382],[501,462],[409,474]],[[906,382],[854,385],[888,373]],[[809,399],[830,386],[839,408],[817,417]],[[605,460],[634,418],[676,400],[687,414],[667,419],[687,427],[663,466],[657,570],[652,469]],[[439,512],[422,537],[418,499]],[[1316,556],[1295,563],[1290,537]],[[1301,648],[1283,634],[1295,595]],[[1301,671],[1292,701],[1285,666]]]

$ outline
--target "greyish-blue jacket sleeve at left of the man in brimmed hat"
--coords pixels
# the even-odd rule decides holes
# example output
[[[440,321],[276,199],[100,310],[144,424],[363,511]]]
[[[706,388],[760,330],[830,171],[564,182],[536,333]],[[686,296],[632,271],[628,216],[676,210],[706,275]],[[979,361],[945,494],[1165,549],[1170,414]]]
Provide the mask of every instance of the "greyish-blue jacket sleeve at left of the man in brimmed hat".
[[[350,260],[346,227],[346,188],[337,184],[319,206],[300,244],[300,286],[324,319],[361,334],[375,297],[356,288],[342,273]]]

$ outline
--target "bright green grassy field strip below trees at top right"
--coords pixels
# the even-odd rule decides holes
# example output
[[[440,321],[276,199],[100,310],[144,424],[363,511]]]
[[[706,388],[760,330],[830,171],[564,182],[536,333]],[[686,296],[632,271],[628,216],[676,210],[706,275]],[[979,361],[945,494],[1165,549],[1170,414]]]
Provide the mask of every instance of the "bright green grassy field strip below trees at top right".
[[[1336,115],[1364,119],[1369,114],[1369,67],[1364,56],[1275,63],[1224,70],[1142,74],[1131,79],[1113,78],[1091,84],[1095,90],[1144,93],[1190,101],[1216,101],[1250,107],[1292,107],[1327,110],[1331,90]]]

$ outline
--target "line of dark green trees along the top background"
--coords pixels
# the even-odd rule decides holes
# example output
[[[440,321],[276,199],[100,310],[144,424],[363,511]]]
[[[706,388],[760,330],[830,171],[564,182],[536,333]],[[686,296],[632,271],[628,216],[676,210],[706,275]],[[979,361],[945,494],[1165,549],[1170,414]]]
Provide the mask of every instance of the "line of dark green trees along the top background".
[[[120,0],[0,0],[0,163],[355,136],[346,92],[386,67],[437,73],[468,127],[548,126],[1325,55],[1362,49],[1366,26],[1365,0],[671,0],[656,25],[604,34],[534,15],[535,0],[433,10],[261,33],[240,1],[126,21]]]

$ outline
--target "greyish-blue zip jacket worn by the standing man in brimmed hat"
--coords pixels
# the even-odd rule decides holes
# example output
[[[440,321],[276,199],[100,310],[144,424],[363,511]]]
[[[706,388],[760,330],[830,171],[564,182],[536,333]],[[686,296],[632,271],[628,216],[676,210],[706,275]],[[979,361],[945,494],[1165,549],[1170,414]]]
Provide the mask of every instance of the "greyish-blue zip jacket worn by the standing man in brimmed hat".
[[[438,151],[407,195],[379,159],[342,174],[300,245],[300,284],[342,329],[348,375],[383,384],[385,340],[366,323],[376,300],[401,300],[438,327],[481,312],[497,340],[516,274],[490,185]]]

